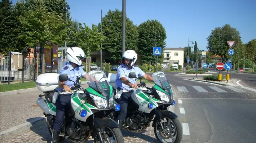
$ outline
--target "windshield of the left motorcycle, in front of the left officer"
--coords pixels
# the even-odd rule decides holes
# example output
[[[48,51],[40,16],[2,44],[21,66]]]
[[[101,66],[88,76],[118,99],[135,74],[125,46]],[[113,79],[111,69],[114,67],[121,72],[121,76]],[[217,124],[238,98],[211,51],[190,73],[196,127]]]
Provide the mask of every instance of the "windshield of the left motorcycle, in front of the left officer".
[[[100,93],[110,92],[108,85],[108,79],[105,72],[102,70],[93,70],[88,72],[89,76],[86,76],[87,84]]]

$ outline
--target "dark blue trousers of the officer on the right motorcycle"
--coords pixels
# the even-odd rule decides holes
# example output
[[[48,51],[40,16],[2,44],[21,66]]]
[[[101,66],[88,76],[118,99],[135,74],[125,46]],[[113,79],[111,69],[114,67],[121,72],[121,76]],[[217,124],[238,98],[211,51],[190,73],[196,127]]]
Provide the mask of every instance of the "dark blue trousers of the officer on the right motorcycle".
[[[128,108],[128,101],[132,100],[131,99],[131,95],[132,95],[133,91],[130,92],[123,92],[120,96],[120,98],[117,100],[117,103],[120,104],[121,109],[120,109],[120,113],[117,117],[117,120],[121,120],[124,121],[126,114],[127,114],[127,108]]]

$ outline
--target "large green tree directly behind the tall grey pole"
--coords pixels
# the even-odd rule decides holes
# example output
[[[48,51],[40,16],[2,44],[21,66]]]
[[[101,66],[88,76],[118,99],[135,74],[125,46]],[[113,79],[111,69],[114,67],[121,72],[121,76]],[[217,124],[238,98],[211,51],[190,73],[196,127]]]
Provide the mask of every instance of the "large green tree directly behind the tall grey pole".
[[[121,60],[122,55],[122,11],[115,9],[109,10],[102,22],[102,31],[106,39],[102,47],[106,50],[108,58],[111,60]],[[111,18],[112,23],[108,23]],[[100,23],[99,23],[100,31]],[[133,22],[126,16],[126,50],[132,49],[138,51],[138,31]]]

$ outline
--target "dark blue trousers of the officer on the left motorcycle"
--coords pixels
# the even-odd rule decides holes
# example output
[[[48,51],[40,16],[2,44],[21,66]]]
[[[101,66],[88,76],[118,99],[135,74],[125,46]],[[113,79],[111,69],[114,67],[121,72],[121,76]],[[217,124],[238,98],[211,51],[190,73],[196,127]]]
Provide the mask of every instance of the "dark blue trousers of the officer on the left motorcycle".
[[[53,129],[55,131],[60,131],[63,121],[65,112],[68,111],[69,108],[71,108],[70,104],[70,98],[72,94],[60,94],[58,99],[56,100],[56,120],[53,123]]]

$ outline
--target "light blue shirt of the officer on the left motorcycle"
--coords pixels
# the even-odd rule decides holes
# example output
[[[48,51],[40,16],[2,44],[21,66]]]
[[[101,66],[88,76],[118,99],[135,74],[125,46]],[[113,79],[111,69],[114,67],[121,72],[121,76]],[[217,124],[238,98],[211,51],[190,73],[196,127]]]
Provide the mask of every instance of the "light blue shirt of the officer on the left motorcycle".
[[[62,67],[60,71],[60,75],[62,74],[67,74],[68,78],[76,83],[77,76],[81,78],[82,76],[86,75],[86,72],[83,70],[82,67],[76,66],[75,68],[73,68],[73,66],[70,63],[68,63],[67,65]],[[72,87],[74,86],[74,83],[72,81],[65,81],[65,84],[68,85],[69,87]],[[63,91],[64,89],[61,89],[60,87],[58,87],[57,90]]]

